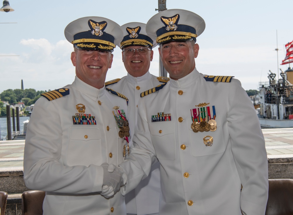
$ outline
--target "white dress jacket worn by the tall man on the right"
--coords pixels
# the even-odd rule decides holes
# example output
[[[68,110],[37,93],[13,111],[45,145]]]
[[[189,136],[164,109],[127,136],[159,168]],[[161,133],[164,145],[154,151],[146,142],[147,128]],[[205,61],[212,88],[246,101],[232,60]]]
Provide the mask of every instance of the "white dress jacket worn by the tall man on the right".
[[[215,107],[216,131],[193,132],[191,111]],[[171,121],[151,122],[163,112]],[[203,138],[211,136],[212,146]],[[268,198],[265,141],[252,102],[241,83],[209,82],[196,69],[170,81],[138,104],[137,130],[123,192],[160,161],[160,215],[264,215]],[[141,167],[140,167],[141,165]],[[241,184],[243,186],[241,191]]]

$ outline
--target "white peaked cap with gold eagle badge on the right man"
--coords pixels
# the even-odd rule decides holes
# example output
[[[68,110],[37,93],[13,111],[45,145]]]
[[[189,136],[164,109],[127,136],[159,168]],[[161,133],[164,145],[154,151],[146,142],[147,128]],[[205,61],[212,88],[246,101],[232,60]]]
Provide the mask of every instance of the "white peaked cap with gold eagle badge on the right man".
[[[181,9],[161,11],[147,22],[147,34],[158,45],[172,41],[195,40],[205,30],[205,21],[196,13]]]

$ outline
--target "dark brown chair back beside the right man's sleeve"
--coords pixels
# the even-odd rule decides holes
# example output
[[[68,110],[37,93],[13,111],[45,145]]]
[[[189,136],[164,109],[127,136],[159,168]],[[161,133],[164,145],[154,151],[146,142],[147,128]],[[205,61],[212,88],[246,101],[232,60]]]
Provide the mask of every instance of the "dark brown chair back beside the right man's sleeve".
[[[265,215],[293,215],[293,179],[269,179]]]

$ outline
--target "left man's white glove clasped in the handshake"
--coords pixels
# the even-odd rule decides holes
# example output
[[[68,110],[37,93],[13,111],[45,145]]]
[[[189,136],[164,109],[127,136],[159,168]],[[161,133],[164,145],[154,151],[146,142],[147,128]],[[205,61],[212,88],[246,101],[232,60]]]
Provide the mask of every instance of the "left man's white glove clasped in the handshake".
[[[115,194],[123,184],[123,178],[120,175],[120,172],[116,170],[108,172],[107,164],[103,163],[101,166],[104,169],[103,186],[107,185],[108,187],[113,187],[113,192]]]

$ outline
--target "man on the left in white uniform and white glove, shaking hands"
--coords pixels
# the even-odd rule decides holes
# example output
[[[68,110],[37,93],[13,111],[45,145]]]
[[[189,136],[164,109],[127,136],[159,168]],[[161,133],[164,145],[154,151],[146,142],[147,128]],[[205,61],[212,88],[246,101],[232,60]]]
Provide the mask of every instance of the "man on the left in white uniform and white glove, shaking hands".
[[[126,214],[121,192],[113,196],[123,179],[105,164],[125,159],[130,136],[127,98],[104,85],[122,30],[107,18],[84,17],[64,33],[74,45],[76,77],[35,103],[25,141],[25,184],[46,191],[44,214]]]

